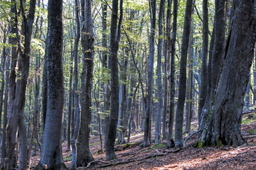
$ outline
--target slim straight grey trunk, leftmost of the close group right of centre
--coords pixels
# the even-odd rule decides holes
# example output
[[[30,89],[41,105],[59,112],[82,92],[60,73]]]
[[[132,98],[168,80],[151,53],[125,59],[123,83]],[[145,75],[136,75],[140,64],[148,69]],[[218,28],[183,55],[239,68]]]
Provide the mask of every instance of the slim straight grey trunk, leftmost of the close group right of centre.
[[[149,35],[149,62],[147,68],[147,96],[146,96],[146,118],[144,124],[144,141],[143,147],[150,145],[150,113],[151,100],[153,97],[153,75],[154,75],[154,39],[156,30],[156,0],[149,1],[150,11],[150,35]]]

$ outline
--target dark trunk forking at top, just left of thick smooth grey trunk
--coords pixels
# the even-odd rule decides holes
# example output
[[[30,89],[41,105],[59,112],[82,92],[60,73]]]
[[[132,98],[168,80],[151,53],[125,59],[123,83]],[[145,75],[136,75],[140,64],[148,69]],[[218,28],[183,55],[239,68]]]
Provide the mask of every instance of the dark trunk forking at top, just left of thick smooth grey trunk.
[[[17,124],[18,132],[20,137],[20,149],[19,149],[19,164],[18,169],[27,169],[28,166],[28,146],[26,138],[26,122],[24,116],[24,107],[26,101],[26,86],[28,81],[29,74],[29,63],[30,63],[30,53],[31,53],[31,38],[33,30],[33,21],[36,11],[36,0],[30,1],[30,7],[28,11],[28,16],[23,8],[23,3],[21,2],[21,11],[23,16],[23,27],[25,35],[24,42],[24,52],[21,52],[20,44],[18,43],[18,48],[21,55],[21,64],[19,64],[18,71],[21,71],[21,74],[18,74],[18,79],[16,82],[16,97],[18,98],[17,105]],[[18,36],[18,33],[17,33]],[[20,78],[20,79],[19,79]]]

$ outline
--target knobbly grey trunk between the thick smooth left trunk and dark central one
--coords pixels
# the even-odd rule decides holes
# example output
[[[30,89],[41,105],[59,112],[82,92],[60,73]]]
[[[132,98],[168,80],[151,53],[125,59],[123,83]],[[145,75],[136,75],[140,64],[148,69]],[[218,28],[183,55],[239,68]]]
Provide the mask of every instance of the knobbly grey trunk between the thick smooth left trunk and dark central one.
[[[94,55],[94,37],[92,24],[92,1],[81,1],[82,21],[82,74],[81,74],[81,125],[78,136],[78,166],[85,166],[93,161],[89,148],[91,105],[92,105],[92,72]],[[78,120],[76,120],[78,121]]]

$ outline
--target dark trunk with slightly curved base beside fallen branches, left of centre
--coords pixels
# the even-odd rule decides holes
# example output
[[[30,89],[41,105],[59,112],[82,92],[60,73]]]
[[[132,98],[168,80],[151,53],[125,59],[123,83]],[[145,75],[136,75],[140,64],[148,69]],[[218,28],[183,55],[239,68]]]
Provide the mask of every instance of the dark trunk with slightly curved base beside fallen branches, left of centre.
[[[112,16],[110,26],[110,74],[111,74],[111,108],[110,118],[107,124],[107,137],[105,138],[105,150],[107,160],[117,159],[114,153],[114,142],[117,137],[117,120],[119,113],[119,69],[117,51],[122,25],[122,3],[120,0],[120,17],[117,25],[118,0],[112,0]]]

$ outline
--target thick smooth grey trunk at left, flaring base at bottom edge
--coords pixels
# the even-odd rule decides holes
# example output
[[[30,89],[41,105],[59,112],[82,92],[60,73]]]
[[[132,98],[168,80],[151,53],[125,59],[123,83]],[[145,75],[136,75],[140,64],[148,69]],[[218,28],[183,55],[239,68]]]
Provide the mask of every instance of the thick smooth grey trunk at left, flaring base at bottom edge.
[[[43,132],[41,159],[36,169],[63,169],[61,130],[63,126],[63,1],[48,1],[46,124]]]

